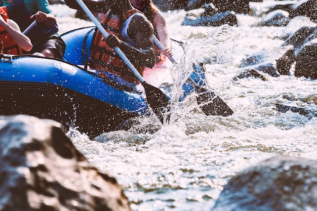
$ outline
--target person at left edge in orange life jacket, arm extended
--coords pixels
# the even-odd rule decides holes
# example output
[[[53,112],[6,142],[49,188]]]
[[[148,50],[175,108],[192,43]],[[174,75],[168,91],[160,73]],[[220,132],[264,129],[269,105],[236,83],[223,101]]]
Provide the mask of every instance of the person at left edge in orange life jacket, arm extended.
[[[20,31],[16,22],[9,19],[7,8],[0,7],[1,53],[20,55],[32,49],[31,40]]]

